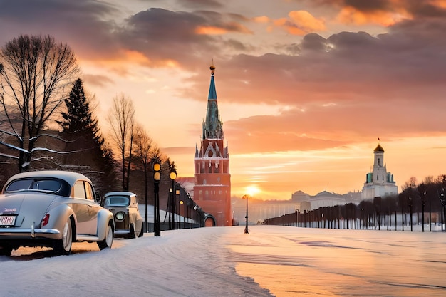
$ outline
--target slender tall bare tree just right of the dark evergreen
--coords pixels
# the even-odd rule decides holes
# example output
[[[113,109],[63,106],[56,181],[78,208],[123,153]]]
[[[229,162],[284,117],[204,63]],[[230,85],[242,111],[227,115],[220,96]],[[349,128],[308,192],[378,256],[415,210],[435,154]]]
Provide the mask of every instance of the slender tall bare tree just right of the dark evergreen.
[[[121,156],[123,190],[128,191],[135,125],[133,101],[123,94],[116,96],[108,114],[108,123],[110,123],[113,142]]]

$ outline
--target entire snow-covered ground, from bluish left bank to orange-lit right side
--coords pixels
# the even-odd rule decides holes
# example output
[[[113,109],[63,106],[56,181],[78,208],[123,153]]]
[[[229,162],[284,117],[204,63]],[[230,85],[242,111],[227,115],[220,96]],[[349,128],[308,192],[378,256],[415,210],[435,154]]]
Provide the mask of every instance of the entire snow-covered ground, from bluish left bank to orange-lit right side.
[[[0,256],[0,296],[446,296],[446,234],[214,227]]]

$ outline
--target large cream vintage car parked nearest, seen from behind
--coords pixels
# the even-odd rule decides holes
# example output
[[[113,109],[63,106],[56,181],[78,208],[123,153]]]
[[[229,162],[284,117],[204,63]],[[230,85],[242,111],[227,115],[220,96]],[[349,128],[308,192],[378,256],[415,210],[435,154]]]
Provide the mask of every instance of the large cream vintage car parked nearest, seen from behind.
[[[11,177],[0,194],[0,254],[19,246],[49,246],[70,254],[73,241],[113,244],[113,214],[95,201],[90,179],[66,171]]]

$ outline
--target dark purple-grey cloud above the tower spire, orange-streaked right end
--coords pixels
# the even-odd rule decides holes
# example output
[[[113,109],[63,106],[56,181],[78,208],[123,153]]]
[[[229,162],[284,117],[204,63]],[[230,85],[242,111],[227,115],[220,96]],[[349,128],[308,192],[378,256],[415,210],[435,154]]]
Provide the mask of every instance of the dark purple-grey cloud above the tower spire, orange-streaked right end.
[[[145,53],[150,61],[174,60],[180,66],[194,69],[203,56],[219,56],[232,47],[246,50],[247,46],[235,39],[200,33],[202,28],[224,32],[249,33],[235,22],[238,15],[223,15],[213,11],[169,11],[147,9],[131,16],[118,38],[122,44]],[[149,65],[150,66],[150,65]]]

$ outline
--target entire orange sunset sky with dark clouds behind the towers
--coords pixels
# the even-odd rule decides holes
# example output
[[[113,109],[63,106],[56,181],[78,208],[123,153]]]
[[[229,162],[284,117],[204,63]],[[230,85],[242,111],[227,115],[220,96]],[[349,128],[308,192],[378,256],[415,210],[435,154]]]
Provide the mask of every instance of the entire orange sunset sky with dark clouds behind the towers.
[[[193,177],[209,66],[232,194],[360,191],[446,173],[446,0],[0,0],[0,45],[51,35],[105,115],[116,95]]]

